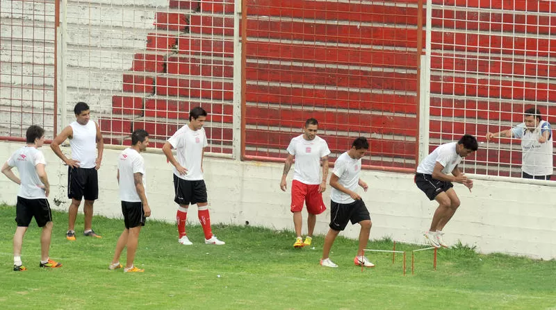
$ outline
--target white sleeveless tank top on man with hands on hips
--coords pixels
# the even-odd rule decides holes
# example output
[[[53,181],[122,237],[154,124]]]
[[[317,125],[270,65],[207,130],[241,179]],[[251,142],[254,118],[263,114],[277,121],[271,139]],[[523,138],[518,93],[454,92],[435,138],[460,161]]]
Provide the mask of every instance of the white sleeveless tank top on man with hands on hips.
[[[95,168],[97,164],[97,125],[89,120],[87,125],[76,121],[70,123],[73,138],[70,139],[72,159],[79,161],[80,168]]]

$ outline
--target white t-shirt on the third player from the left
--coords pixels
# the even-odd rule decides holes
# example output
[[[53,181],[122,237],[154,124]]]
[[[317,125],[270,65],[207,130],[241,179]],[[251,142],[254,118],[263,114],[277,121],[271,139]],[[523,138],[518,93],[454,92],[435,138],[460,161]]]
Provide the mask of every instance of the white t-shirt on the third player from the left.
[[[120,200],[129,203],[140,203],[141,198],[137,193],[133,175],[135,173],[142,174],[142,183],[146,193],[145,160],[143,157],[133,148],[126,148],[120,153],[117,169],[120,171]]]

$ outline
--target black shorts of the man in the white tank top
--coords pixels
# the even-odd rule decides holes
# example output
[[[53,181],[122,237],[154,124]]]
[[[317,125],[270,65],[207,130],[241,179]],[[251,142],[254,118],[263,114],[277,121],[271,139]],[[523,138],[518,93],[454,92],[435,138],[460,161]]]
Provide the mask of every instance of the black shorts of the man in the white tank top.
[[[95,168],[67,167],[67,198],[97,200],[99,176]]]

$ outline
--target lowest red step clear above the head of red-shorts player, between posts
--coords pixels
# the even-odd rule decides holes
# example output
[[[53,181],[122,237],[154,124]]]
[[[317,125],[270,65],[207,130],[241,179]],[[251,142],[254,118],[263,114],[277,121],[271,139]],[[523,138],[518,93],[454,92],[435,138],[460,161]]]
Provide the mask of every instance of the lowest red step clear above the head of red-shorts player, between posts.
[[[404,92],[361,92],[359,89],[325,89],[301,85],[268,85],[250,83],[246,85],[245,101],[300,107],[327,107],[350,110],[377,110],[416,114],[416,94]]]

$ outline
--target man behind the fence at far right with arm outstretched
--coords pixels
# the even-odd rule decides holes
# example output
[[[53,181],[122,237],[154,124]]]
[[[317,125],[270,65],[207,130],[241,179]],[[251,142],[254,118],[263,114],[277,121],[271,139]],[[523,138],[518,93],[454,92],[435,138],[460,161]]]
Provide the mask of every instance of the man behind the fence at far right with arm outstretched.
[[[525,110],[523,123],[500,132],[486,133],[486,140],[493,138],[521,139],[521,177],[525,179],[550,180],[553,168],[553,137],[548,121],[534,107]]]

